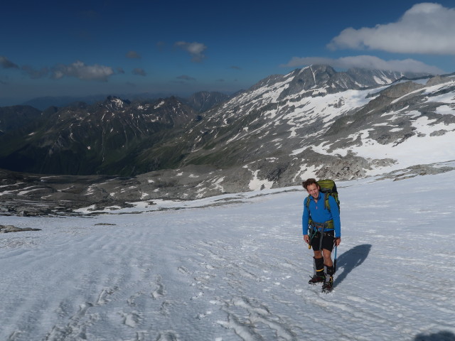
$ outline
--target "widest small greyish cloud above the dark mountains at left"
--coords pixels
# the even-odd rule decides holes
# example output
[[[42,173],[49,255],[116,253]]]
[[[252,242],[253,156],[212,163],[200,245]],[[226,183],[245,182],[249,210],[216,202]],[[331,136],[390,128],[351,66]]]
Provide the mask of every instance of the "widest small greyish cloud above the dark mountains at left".
[[[85,65],[81,61],[70,65],[57,65],[53,68],[53,78],[58,80],[62,77],[76,77],[80,80],[104,80],[114,74],[112,67],[104,65]]]

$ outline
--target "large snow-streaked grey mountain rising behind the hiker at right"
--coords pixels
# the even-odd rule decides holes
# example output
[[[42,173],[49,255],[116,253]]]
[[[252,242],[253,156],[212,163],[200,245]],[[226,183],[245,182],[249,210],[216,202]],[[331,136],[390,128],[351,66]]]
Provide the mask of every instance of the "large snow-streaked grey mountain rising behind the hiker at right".
[[[454,76],[364,88],[378,73],[363,84],[356,77],[355,86],[340,73],[321,65],[272,76],[210,110],[188,132],[194,143],[185,163],[235,165],[282,187],[309,175],[350,179],[406,168],[412,153],[419,163],[455,158]]]

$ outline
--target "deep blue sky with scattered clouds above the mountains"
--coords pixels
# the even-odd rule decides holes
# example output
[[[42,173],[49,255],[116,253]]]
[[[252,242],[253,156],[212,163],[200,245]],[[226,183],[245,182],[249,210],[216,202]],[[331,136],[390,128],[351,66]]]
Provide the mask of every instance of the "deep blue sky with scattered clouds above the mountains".
[[[325,63],[455,72],[455,1],[9,1],[0,105],[235,92]]]

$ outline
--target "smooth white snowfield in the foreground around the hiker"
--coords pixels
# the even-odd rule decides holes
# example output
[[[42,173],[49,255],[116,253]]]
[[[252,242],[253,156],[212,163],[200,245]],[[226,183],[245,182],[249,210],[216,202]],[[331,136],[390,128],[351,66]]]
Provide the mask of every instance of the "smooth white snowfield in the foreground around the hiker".
[[[455,171],[340,182],[328,294],[307,284],[302,188],[213,207],[1,217],[42,230],[0,234],[0,340],[453,341],[454,183]]]

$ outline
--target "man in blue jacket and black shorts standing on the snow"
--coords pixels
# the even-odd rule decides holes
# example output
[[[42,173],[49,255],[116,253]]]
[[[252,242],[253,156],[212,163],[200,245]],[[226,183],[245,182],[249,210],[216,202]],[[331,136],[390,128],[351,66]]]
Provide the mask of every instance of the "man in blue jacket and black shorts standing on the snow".
[[[332,195],[322,193],[316,179],[310,178],[302,183],[309,196],[304,200],[304,212],[301,224],[304,230],[304,241],[314,251],[314,276],[309,284],[323,283],[322,291],[333,288],[332,250],[341,243],[340,210]],[[308,200],[308,201],[307,201]]]

